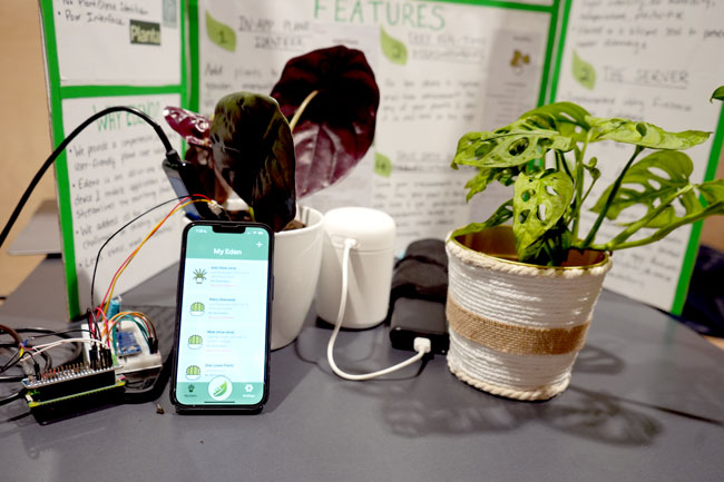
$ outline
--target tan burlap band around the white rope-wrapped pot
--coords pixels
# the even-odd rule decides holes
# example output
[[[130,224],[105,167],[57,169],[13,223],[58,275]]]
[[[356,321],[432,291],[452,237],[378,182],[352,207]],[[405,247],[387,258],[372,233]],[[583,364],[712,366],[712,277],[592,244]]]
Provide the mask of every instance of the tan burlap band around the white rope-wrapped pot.
[[[510,325],[480,316],[448,296],[450,327],[466,338],[502,353],[517,355],[561,355],[577,352],[586,342],[590,321],[562,328]]]

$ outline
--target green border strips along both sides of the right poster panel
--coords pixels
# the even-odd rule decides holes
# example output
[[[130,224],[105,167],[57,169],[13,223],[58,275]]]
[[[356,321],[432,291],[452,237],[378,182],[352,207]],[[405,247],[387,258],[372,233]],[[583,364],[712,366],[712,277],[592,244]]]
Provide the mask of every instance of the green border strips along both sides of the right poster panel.
[[[558,42],[556,67],[551,80],[550,96],[548,98],[549,102],[556,101],[558,94],[558,83],[560,80],[560,70],[564,57],[564,48],[566,45],[566,35],[568,32],[571,2],[573,0],[564,0],[562,20],[560,24],[560,41]],[[716,130],[714,132],[715,134],[712,141],[712,149],[710,151],[706,173],[704,175],[705,181],[712,180],[716,176],[716,167],[718,165],[722,145],[724,144],[724,107],[722,107],[720,111]],[[684,255],[684,260],[679,270],[678,282],[676,283],[676,291],[674,292],[674,301],[669,309],[672,314],[677,316],[682,314],[684,304],[686,303],[686,295],[688,293],[688,286],[692,281],[692,274],[694,273],[694,265],[696,263],[696,256],[698,254],[698,243],[702,235],[702,226],[703,222],[697,222],[692,225],[692,233],[686,246],[686,254]]]

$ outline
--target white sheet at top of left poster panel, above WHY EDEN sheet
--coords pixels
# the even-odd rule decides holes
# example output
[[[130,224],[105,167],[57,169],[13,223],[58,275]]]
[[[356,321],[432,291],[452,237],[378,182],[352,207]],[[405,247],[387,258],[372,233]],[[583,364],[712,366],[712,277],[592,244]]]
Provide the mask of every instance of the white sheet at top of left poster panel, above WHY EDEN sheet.
[[[52,0],[60,85],[180,83],[179,0]]]

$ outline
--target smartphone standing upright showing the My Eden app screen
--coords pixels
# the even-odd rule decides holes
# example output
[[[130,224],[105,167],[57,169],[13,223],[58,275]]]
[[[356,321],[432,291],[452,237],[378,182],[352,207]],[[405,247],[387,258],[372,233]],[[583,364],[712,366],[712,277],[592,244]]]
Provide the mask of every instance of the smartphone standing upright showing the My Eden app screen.
[[[261,411],[268,396],[274,235],[199,220],[182,240],[170,397],[179,412]]]

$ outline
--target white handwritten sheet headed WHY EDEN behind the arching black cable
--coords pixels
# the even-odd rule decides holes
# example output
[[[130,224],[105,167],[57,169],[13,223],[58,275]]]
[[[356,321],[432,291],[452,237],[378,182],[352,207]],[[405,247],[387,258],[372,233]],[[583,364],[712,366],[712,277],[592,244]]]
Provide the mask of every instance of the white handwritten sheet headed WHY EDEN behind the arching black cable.
[[[177,106],[178,95],[67,99],[62,102],[63,128],[70,132],[88,117],[111,106],[136,107],[164,126],[176,149],[180,138],[166,127],[163,109]],[[118,228],[147,209],[176,198],[162,161],[166,150],[154,129],[139,117],[114,112],[90,125],[66,149],[71,219],[61,216],[63,232],[72,229],[72,246],[63,246],[66,263],[75,256],[81,307],[100,303],[126,257],[170,212],[165,205],[133,223],[116,236],[98,257],[99,248]],[[62,210],[61,210],[62,215]],[[172,217],[140,249],[116,285],[115,293],[136,286],[178,260],[183,214]],[[95,304],[90,281],[98,257]]]

